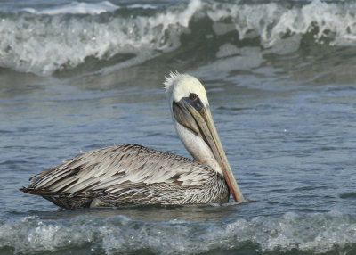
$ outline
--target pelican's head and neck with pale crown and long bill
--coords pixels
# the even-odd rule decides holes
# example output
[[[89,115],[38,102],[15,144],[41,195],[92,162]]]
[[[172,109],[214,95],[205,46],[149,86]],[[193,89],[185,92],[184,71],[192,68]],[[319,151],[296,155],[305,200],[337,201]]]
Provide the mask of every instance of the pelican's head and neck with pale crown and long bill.
[[[217,135],[204,86],[187,74],[171,73],[165,82],[174,127],[195,160],[222,174],[235,201],[244,201]]]

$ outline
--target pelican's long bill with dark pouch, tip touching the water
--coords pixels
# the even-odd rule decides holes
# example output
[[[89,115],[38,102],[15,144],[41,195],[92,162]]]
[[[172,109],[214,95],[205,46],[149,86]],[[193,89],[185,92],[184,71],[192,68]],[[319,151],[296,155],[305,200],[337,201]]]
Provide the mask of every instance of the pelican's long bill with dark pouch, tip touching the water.
[[[244,196],[233,176],[230,164],[223,151],[223,145],[217,135],[214,120],[209,106],[204,106],[200,100],[192,101],[184,97],[180,102],[173,102],[174,118],[184,127],[187,127],[197,136],[200,136],[209,146],[214,158],[223,170],[223,175],[229,185],[229,190],[236,202],[243,202]]]

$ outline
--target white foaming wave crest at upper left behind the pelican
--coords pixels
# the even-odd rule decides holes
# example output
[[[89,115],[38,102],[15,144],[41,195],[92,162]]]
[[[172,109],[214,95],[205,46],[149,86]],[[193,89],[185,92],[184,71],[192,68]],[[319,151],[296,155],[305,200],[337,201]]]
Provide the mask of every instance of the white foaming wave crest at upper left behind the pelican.
[[[101,5],[113,8],[109,2]],[[73,12],[77,13],[84,5],[76,6]],[[144,62],[156,56],[157,51],[179,47],[182,29],[188,29],[200,6],[200,1],[194,0],[184,10],[172,9],[148,17],[109,16],[102,18],[104,21],[87,15],[12,15],[0,20],[0,66],[50,75],[54,70],[76,67],[86,57],[109,59],[123,53],[134,54],[134,60],[131,58],[120,66]],[[68,13],[68,9],[69,6],[64,6],[43,12]],[[95,7],[92,12],[102,10]]]

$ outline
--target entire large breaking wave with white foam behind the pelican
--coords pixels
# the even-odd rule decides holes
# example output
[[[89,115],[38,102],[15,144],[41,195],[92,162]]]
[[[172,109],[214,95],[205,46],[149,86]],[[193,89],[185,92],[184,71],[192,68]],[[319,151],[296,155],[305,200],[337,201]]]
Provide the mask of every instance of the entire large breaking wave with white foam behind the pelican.
[[[52,75],[96,60],[98,66],[105,62],[118,70],[184,49],[183,36],[190,44],[217,39],[225,45],[231,43],[227,34],[238,46],[246,42],[281,53],[297,50],[303,39],[354,46],[356,4],[191,0],[155,6],[105,1],[0,12],[0,67]]]

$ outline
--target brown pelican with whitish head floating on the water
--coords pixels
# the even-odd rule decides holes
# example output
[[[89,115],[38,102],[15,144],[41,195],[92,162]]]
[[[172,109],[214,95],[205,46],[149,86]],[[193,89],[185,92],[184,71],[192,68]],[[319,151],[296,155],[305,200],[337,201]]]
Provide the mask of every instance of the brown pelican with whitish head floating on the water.
[[[141,145],[77,155],[31,177],[25,193],[66,209],[244,201],[214,127],[204,86],[187,74],[165,82],[174,127],[195,160]]]

